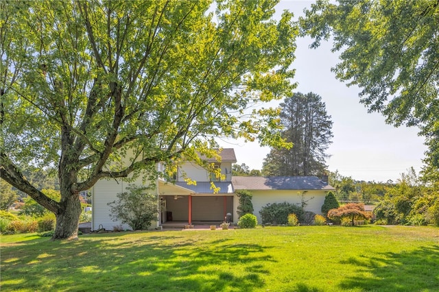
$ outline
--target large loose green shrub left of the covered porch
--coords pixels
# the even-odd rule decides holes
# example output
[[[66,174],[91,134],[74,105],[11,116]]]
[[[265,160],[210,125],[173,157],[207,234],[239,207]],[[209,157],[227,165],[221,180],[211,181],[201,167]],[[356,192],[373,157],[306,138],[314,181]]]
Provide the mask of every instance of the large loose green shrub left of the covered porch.
[[[110,202],[110,217],[113,221],[121,220],[133,230],[150,228],[152,220],[157,217],[157,196],[147,193],[145,186],[128,186],[126,192],[117,194],[117,202]]]

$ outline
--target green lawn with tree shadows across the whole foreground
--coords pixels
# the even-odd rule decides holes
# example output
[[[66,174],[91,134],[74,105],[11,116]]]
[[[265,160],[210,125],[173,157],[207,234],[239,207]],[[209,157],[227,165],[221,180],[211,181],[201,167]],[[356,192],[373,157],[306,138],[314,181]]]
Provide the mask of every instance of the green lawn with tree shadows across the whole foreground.
[[[1,291],[439,291],[438,228],[32,236],[1,236]]]

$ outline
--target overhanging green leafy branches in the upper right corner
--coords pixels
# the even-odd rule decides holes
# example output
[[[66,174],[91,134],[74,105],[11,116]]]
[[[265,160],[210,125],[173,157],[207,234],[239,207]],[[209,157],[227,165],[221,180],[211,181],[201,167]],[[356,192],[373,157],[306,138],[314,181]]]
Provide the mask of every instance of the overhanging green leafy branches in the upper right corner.
[[[387,123],[420,127],[425,178],[439,181],[439,1],[317,1],[300,19],[311,47],[332,37],[336,77]]]

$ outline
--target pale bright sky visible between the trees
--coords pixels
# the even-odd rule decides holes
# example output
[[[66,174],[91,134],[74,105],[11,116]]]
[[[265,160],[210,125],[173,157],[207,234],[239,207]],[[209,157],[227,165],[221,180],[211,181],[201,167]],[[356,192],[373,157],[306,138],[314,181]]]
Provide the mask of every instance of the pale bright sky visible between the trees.
[[[276,15],[287,9],[297,19],[311,3],[282,0],[276,7]],[[418,129],[394,127],[386,124],[381,114],[368,113],[359,103],[360,89],[347,87],[331,72],[338,55],[331,52],[330,42],[323,42],[318,49],[309,49],[311,38],[298,38],[296,44],[296,60],[292,64],[296,69],[293,82],[298,82],[295,92],[320,95],[333,121],[333,143],[326,151],[331,156],[327,160],[329,171],[375,182],[396,182],[410,167],[419,172],[427,147],[418,136]],[[237,164],[245,163],[250,169],[262,169],[263,158],[270,152],[269,147],[260,147],[257,142],[219,141],[219,144],[234,148]]]

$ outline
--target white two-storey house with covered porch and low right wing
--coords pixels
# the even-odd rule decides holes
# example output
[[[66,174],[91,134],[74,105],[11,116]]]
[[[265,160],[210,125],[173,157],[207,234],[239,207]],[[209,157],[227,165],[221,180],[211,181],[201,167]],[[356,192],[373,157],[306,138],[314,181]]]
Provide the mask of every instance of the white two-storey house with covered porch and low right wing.
[[[259,223],[259,210],[268,203],[290,202],[302,204],[305,210],[320,214],[327,191],[334,190],[327,182],[317,177],[232,177],[233,163],[237,162],[235,151],[231,148],[219,151],[221,161],[200,156],[202,160],[213,163],[221,170],[222,178],[217,178],[206,169],[187,161],[178,167],[176,181],[167,182],[159,178],[156,182],[158,195],[158,218],[153,228],[160,226],[184,226],[187,224],[211,224],[224,221],[237,223],[239,199],[236,190],[252,191],[254,215]],[[160,169],[158,165],[158,169]],[[191,178],[196,184],[189,184],[185,178]],[[219,191],[214,192],[212,182]],[[130,184],[145,184],[138,178]],[[99,180],[93,186],[92,230],[105,228],[112,230],[121,223],[110,219],[108,202],[117,199],[117,194],[126,191],[129,184],[121,179]],[[130,229],[123,225],[123,229]]]

